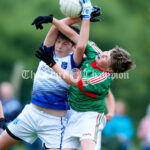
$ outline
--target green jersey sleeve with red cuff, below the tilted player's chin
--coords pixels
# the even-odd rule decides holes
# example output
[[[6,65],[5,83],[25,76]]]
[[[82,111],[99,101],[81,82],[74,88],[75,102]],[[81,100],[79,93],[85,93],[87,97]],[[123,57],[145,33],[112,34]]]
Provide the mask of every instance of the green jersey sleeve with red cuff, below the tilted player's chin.
[[[103,98],[108,94],[110,81],[110,73],[103,72],[100,76],[81,78],[81,80],[78,82],[78,88],[85,95],[93,98]]]

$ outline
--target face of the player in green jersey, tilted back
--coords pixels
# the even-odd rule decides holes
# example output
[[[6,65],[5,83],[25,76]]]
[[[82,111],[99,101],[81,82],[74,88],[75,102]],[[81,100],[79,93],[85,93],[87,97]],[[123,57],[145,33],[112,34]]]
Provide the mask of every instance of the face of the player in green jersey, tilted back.
[[[100,67],[102,70],[107,71],[107,72],[112,72],[112,69],[110,68],[110,63],[111,63],[111,51],[105,51],[100,54],[100,58],[96,56],[95,61],[98,67]]]

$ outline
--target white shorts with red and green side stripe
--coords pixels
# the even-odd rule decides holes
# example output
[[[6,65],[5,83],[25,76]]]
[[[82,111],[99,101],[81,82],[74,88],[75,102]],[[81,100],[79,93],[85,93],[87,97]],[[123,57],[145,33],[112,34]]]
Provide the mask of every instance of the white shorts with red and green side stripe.
[[[101,131],[105,127],[106,118],[98,112],[76,112],[71,110],[71,117],[65,129],[62,148],[78,149],[80,141],[91,139],[100,148]]]

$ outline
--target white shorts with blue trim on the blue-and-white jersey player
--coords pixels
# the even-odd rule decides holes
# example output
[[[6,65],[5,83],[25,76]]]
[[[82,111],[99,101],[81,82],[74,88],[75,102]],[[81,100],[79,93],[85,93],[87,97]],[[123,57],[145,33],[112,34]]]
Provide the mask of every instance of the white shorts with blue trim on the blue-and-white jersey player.
[[[65,117],[52,116],[28,104],[8,125],[7,132],[31,144],[39,137],[46,148],[61,148],[66,123]]]

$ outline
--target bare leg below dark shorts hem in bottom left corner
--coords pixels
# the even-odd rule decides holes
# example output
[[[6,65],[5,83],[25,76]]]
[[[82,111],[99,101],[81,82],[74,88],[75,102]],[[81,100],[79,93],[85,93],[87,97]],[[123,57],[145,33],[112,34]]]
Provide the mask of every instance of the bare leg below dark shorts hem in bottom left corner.
[[[17,144],[19,140],[12,138],[6,130],[0,135],[0,150],[7,150]]]

